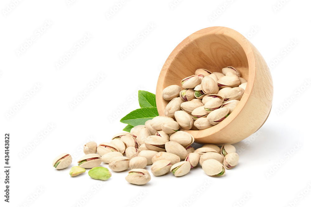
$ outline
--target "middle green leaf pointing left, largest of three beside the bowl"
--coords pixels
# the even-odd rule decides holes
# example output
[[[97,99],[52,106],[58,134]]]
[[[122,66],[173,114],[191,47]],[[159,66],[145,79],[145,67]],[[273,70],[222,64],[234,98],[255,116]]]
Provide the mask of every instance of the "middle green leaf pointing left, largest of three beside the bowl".
[[[128,115],[124,116],[120,122],[135,127],[137,125],[145,124],[147,120],[153,119],[156,116],[159,116],[156,107],[144,107],[130,112]]]

